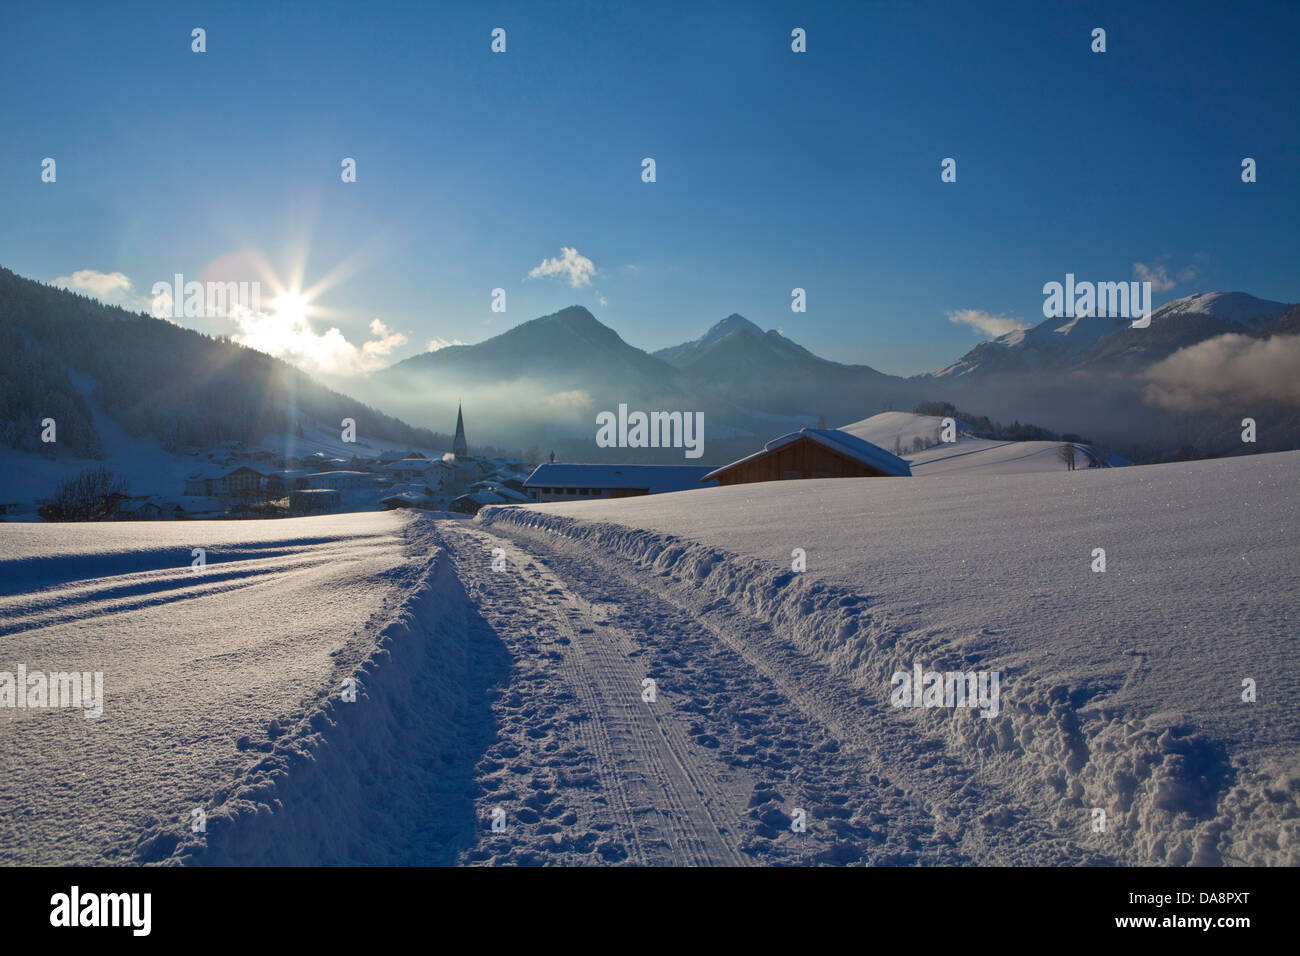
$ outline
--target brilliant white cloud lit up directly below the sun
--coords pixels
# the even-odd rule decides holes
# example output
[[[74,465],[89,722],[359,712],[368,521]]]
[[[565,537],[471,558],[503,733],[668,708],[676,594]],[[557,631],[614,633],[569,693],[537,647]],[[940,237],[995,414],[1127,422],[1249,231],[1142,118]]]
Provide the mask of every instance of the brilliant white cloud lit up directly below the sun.
[[[393,332],[378,319],[370,321],[374,338],[360,347],[347,341],[337,328],[317,334],[306,316],[268,312],[237,312],[231,316],[239,332],[231,338],[239,345],[274,355],[307,372],[354,377],[384,368],[394,349],[406,345],[407,337]]]

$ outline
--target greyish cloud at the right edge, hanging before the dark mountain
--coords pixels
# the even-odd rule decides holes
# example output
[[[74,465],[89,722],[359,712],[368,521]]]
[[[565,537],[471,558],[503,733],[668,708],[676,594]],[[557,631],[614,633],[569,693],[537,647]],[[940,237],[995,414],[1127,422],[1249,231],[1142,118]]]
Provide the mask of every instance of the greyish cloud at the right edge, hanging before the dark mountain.
[[[1221,407],[1228,402],[1300,402],[1300,336],[1252,338],[1230,333],[1179,349],[1147,371],[1143,397],[1166,408]]]

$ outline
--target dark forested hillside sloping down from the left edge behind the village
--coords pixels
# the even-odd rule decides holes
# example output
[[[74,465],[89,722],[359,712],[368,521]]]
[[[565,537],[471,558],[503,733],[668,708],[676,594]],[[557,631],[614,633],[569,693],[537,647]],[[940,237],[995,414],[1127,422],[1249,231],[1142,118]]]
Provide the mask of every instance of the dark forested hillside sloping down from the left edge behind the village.
[[[168,449],[257,442],[302,421],[337,427],[344,418],[361,436],[450,446],[448,436],[412,428],[228,338],[0,268],[0,441],[38,451],[40,421],[52,418],[62,449],[98,455],[91,410],[69,372],[92,380],[91,395],[129,434],[157,437]]]

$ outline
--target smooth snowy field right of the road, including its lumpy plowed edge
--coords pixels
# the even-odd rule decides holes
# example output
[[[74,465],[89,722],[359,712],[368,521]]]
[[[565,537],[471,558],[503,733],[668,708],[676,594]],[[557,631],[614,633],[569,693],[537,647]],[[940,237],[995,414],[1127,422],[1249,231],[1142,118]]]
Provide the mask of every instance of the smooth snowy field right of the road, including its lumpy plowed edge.
[[[685,585],[684,601],[771,628],[798,650],[793,667],[824,671],[774,670],[774,683],[803,687],[831,723],[848,713],[831,705],[840,691],[846,709],[874,710],[863,748],[906,740],[890,773],[952,832],[1013,844],[1001,861],[1045,861],[1063,839],[1071,861],[1295,864],[1297,480],[1287,453],[770,483],[481,520],[619,555]],[[1000,671],[1002,713],[889,708],[890,676],[916,662]]]

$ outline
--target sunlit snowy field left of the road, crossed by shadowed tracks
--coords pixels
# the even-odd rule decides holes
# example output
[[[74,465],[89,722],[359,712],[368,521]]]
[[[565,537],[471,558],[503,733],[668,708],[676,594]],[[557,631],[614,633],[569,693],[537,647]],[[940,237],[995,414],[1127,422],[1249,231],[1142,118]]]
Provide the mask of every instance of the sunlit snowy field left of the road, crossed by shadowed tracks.
[[[265,758],[273,721],[370,653],[368,628],[420,570],[402,528],[391,514],[0,524],[0,671],[103,672],[101,717],[0,709],[0,862],[169,852],[138,840],[211,809]]]

